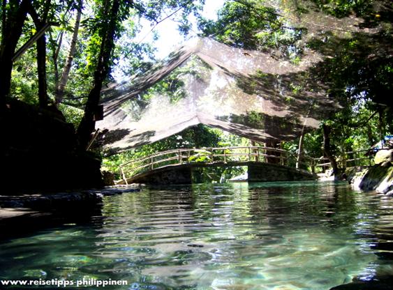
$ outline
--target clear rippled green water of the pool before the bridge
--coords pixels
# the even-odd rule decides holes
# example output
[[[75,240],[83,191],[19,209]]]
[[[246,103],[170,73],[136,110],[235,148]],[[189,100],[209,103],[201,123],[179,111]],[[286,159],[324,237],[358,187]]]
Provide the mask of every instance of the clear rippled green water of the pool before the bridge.
[[[88,224],[3,241],[0,279],[128,281],[114,289],[330,289],[393,275],[392,208],[393,199],[343,183],[144,189],[105,197],[102,216]]]

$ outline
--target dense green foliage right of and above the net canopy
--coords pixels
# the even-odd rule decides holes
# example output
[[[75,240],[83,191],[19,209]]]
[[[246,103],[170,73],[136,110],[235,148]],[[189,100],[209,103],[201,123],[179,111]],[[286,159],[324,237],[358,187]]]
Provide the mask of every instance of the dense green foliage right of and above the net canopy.
[[[340,156],[370,148],[393,132],[392,11],[386,1],[284,1],[273,7],[236,0],[225,2],[216,22],[202,20],[200,26],[206,36],[222,43],[271,49],[272,55],[289,56],[294,63],[305,51],[320,53],[323,61],[313,74],[343,109],[323,121],[320,130],[306,134],[303,149],[314,157]],[[320,17],[327,20],[320,23]],[[361,20],[359,29],[337,25],[354,17]],[[331,152],[322,146],[324,137]],[[281,146],[295,153],[298,142]]]

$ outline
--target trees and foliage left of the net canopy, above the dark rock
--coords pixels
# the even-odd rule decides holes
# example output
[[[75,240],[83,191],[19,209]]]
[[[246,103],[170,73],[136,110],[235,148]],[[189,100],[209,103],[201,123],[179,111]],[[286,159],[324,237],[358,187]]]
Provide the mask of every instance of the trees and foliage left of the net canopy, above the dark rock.
[[[151,45],[135,40],[142,20],[157,25],[170,15],[186,33],[188,15],[198,15],[202,3],[2,1],[0,101],[3,104],[10,97],[42,108],[60,109],[68,121],[80,126],[78,133],[84,131],[80,134],[84,147],[83,140],[94,130],[101,87],[111,82],[112,73],[116,73],[113,64],[120,63],[118,71],[134,74],[146,70],[154,61]],[[43,27],[43,36],[13,59],[17,48]]]

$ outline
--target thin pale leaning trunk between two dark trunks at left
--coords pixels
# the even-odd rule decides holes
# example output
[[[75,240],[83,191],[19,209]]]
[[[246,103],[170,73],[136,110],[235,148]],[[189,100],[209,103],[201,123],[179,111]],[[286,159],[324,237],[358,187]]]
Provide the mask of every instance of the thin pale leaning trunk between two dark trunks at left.
[[[80,6],[82,6],[82,5],[80,5]],[[71,40],[71,47],[70,47],[70,51],[68,52],[66,65],[63,68],[63,72],[61,73],[61,78],[60,78],[59,84],[57,84],[56,91],[54,93],[54,104],[56,106],[58,106],[63,101],[63,98],[64,98],[64,90],[66,89],[66,85],[68,82],[68,76],[70,75],[71,66],[73,65],[73,57],[75,55],[77,33],[79,31],[81,15],[82,15],[82,8],[80,7],[77,10],[74,31],[73,31],[73,38]]]

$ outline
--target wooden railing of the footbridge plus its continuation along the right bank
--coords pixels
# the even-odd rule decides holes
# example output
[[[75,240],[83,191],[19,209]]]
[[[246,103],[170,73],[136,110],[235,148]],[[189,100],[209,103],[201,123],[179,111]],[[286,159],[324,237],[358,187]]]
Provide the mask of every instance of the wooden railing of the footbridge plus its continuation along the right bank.
[[[341,154],[337,158],[339,167],[353,167],[361,165],[373,165],[373,154],[377,149],[349,151]],[[232,146],[216,148],[179,148],[159,153],[154,153],[147,157],[130,160],[119,166],[121,178],[127,178],[171,165],[191,164],[191,163],[235,163],[239,162],[266,162],[288,167],[296,167],[311,171],[312,173],[324,172],[330,168],[327,158],[312,158],[302,155],[298,160],[297,155],[279,148],[262,146]]]

